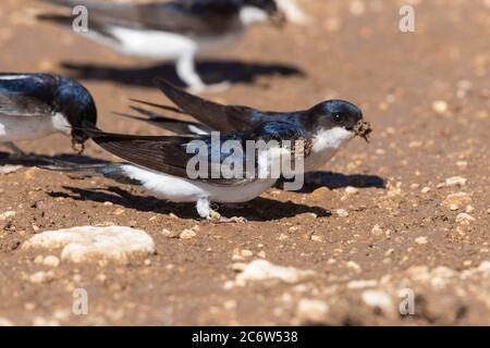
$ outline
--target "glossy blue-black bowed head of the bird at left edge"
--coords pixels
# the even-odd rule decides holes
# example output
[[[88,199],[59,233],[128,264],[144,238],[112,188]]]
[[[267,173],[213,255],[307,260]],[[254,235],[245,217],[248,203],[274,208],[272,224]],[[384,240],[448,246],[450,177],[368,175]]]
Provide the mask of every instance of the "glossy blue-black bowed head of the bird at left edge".
[[[72,78],[59,77],[60,83],[53,99],[57,112],[64,115],[72,126],[73,144],[83,145],[88,136],[82,130],[86,125],[97,124],[97,108],[90,92]]]

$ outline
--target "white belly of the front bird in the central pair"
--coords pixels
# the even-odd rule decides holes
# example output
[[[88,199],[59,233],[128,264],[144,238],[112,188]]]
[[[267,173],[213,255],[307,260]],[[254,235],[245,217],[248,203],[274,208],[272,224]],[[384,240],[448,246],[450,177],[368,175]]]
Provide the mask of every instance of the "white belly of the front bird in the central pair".
[[[196,202],[205,197],[218,203],[245,202],[260,196],[275,183],[275,179],[262,179],[246,187],[219,187],[150,172],[134,165],[124,165],[123,169],[131,178],[142,182],[151,195],[173,202]]]

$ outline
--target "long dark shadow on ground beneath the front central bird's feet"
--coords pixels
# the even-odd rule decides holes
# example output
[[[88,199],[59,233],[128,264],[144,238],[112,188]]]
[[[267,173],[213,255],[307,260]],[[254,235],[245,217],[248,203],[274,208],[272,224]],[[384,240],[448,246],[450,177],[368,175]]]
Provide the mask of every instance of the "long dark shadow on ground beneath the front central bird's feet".
[[[78,201],[112,202],[127,209],[159,214],[173,213],[181,219],[198,219],[194,203],[173,203],[155,197],[140,196],[117,186],[106,188],[79,188],[63,186],[69,192],[48,192],[52,198],[70,198]],[[320,207],[308,207],[292,201],[281,202],[258,197],[249,202],[240,204],[221,204],[219,209],[223,216],[244,216],[248,221],[273,221],[292,217],[303,213],[315,213],[317,216],[330,216],[331,213]]]

